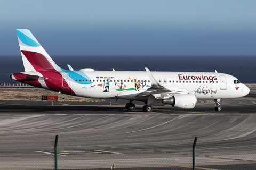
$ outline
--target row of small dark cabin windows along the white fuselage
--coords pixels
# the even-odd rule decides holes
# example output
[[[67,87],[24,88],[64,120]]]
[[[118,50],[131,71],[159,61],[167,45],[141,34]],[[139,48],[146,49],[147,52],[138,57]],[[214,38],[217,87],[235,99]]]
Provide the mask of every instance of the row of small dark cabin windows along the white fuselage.
[[[77,82],[77,79],[76,79],[75,81]],[[83,79],[82,81],[83,81],[83,82],[84,82],[84,81],[86,81],[86,82],[88,82],[88,81],[89,81],[89,82],[95,82],[95,80],[84,80],[84,79]],[[106,82],[106,80],[98,80],[98,79],[96,80],[96,82],[102,82],[102,81],[103,81],[103,82]],[[120,81],[121,81],[121,82],[126,82],[126,80],[124,80],[124,81],[123,81],[123,80],[120,80]],[[79,79],[78,82],[81,82],[81,79]],[[110,80],[110,82],[116,82],[116,80],[114,80],[114,81],[113,81],[113,80]],[[117,82],[119,82],[119,80],[117,80]],[[130,80],[127,80],[127,82],[130,82]],[[133,82],[133,80],[131,80],[131,82]],[[145,80],[145,82],[147,82],[147,80]],[[150,80],[148,80],[148,82],[150,82]],[[158,79],[158,82],[161,84],[161,80]],[[167,82],[167,80],[164,80],[164,83],[166,83],[166,82]],[[199,83],[208,83],[208,81],[194,81],[194,80],[193,80],[193,81],[191,81],[191,80],[190,80],[190,81],[188,81],[188,80],[187,80],[187,81],[185,81],[185,80],[183,80],[183,81],[181,81],[181,80],[179,80],[179,81],[178,81],[178,80],[176,80],[176,81],[174,81],[174,80],[171,81],[171,80],[170,80],[169,83],[171,83],[171,82],[172,82],[172,83],[175,83],[175,82],[176,82],[176,83],[178,83],[178,82],[179,82],[179,83],[181,83],[181,82],[183,82],[183,83],[185,83],[185,82],[186,82],[186,83],[198,83],[198,82],[199,82]],[[209,81],[209,83],[215,83],[215,82],[218,83],[218,81]],[[240,83],[240,82],[239,82],[239,83]]]

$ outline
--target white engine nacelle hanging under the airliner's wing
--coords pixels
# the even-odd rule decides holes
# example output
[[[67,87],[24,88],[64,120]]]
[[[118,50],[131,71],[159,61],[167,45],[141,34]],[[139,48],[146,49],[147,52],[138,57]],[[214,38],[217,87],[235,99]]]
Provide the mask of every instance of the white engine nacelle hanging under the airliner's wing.
[[[180,94],[174,95],[170,98],[163,99],[164,104],[172,105],[172,107],[179,107],[183,109],[194,108],[197,98],[194,94]]]

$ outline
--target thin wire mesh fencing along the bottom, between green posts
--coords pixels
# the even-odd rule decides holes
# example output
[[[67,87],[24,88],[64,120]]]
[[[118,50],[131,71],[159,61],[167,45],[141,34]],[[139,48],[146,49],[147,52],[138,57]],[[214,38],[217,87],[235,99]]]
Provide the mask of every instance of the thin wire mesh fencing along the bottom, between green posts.
[[[52,140],[52,147],[1,148],[0,169],[193,169],[193,143],[185,149],[58,144],[55,152]],[[195,169],[256,169],[256,148],[217,150],[195,146]]]

